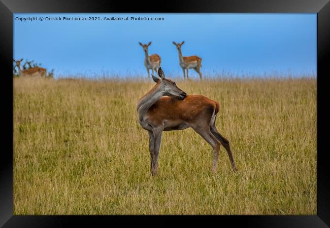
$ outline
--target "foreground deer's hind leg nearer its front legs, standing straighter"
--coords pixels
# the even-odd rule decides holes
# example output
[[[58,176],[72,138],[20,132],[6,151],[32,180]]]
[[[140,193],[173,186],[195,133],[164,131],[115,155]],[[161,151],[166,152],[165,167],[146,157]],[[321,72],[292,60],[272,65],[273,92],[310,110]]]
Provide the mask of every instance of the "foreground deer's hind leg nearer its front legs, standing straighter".
[[[220,142],[214,137],[214,135],[211,133],[209,127],[192,127],[195,132],[197,132],[199,135],[201,135],[205,141],[207,141],[213,148],[213,166],[212,171],[213,173],[216,172],[217,169],[217,163],[219,160],[219,150],[220,150]]]

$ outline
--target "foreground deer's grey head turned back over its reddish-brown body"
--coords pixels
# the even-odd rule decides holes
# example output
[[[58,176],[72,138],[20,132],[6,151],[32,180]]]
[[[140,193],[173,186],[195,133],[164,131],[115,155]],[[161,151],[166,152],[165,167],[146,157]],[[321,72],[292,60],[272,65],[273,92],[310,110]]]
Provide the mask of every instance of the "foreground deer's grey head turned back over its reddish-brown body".
[[[166,79],[164,72],[162,71],[161,67],[158,68],[158,76],[159,78],[155,77],[153,74],[152,79],[155,83],[159,84],[159,88],[163,93],[163,96],[170,96],[170,97],[177,97],[180,100],[183,100],[187,94],[177,87],[176,83],[170,79]]]

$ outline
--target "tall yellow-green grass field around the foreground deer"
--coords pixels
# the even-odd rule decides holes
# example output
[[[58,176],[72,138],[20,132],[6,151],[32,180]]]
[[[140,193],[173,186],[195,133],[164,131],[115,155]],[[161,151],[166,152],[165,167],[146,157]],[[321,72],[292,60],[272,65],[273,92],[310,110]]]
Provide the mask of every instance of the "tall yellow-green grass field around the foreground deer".
[[[143,80],[14,80],[14,214],[316,214],[316,79],[177,81],[220,103],[213,151],[164,132],[158,176],[136,103]]]

